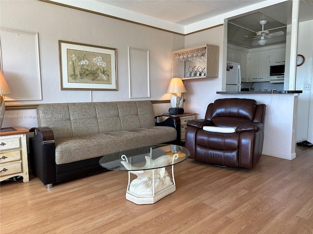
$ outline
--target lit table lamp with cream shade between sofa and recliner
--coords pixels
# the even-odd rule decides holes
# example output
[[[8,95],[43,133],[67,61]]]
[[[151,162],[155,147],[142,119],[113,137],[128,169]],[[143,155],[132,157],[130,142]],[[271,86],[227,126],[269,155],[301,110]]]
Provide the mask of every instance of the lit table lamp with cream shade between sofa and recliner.
[[[186,88],[181,78],[172,78],[168,86],[167,93],[171,93],[172,108],[168,110],[171,115],[183,114],[184,109],[181,107],[183,98],[182,93],[186,93]]]

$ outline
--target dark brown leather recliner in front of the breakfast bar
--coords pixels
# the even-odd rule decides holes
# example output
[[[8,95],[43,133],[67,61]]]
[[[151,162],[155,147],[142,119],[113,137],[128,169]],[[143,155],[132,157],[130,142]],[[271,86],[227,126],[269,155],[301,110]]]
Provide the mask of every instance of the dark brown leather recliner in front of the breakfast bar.
[[[210,103],[205,119],[187,122],[185,147],[190,158],[252,169],[262,153],[265,109],[265,104],[245,98],[223,98]]]

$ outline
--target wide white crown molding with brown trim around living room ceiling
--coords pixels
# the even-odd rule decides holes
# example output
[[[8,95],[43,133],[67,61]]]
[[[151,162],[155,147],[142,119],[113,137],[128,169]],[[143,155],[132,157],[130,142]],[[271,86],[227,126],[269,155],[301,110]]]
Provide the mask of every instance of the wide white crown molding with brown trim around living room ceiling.
[[[258,2],[234,11],[230,11],[215,17],[201,20],[188,25],[181,25],[167,20],[157,19],[155,17],[147,16],[120,7],[109,5],[95,0],[40,0],[47,3],[56,4],[59,6],[69,7],[76,10],[89,12],[116,20],[122,20],[141,26],[154,28],[157,30],[187,36],[194,33],[199,33],[211,28],[222,26],[224,19],[230,19],[241,14],[246,14],[270,5],[274,5],[287,0],[265,0]]]

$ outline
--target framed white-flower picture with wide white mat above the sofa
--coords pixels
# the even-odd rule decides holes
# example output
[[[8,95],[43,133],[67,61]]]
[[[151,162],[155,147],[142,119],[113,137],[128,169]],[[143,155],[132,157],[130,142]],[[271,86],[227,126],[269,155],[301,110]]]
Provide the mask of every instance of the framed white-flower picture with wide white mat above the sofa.
[[[117,90],[116,49],[59,40],[61,90]]]

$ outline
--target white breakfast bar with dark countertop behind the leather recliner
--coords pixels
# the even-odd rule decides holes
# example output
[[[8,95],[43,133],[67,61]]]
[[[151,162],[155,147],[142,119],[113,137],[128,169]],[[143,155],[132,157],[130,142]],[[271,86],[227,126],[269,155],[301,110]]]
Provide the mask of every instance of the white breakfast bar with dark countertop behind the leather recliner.
[[[216,93],[220,98],[250,98],[266,104],[262,154],[289,160],[295,158],[296,116],[302,90]]]

